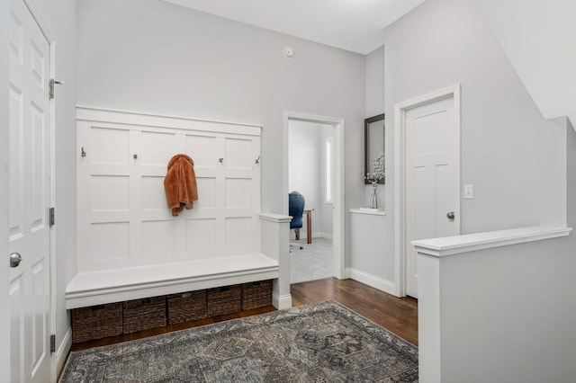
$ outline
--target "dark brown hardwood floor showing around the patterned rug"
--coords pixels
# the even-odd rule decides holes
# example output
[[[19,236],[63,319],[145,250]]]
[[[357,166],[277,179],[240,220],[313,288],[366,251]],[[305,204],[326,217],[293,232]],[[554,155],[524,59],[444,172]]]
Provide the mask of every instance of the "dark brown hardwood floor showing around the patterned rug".
[[[366,286],[358,281],[339,281],[335,278],[293,284],[291,291],[293,306],[302,306],[334,299],[344,306],[356,311],[356,313],[361,316],[365,316],[374,323],[382,325],[392,333],[401,336],[408,342],[418,345],[417,299],[396,298],[383,291]],[[223,320],[264,314],[271,311],[275,311],[275,307],[261,307],[227,316],[214,316],[194,322],[187,322],[178,325],[166,325],[166,327],[141,331],[134,334],[122,334],[95,341],[75,343],[72,345],[71,351],[76,352],[103,345],[145,338],[147,336],[165,334],[198,325],[209,325]]]

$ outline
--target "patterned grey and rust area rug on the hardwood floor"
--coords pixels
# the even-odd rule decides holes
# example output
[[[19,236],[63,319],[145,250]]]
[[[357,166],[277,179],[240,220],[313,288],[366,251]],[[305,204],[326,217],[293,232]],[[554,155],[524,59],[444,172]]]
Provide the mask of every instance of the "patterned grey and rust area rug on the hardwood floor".
[[[72,352],[61,382],[417,382],[418,348],[335,301]]]

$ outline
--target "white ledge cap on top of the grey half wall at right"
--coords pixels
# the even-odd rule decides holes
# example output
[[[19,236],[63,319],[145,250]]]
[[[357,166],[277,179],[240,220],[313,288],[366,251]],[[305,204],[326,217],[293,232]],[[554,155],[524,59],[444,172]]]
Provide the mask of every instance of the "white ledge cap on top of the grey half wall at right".
[[[568,236],[572,227],[521,227],[509,230],[489,231],[466,234],[464,236],[445,236],[441,238],[412,241],[419,254],[445,256],[473,252],[524,242]]]

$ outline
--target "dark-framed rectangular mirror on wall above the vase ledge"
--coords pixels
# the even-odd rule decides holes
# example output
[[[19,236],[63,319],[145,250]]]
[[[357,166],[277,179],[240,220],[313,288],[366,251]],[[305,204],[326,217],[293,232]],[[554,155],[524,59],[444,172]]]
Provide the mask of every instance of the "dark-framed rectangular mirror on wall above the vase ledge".
[[[365,174],[374,174],[374,160],[384,153],[384,114],[369,117],[364,120],[364,169]],[[381,159],[383,164],[383,158]],[[385,171],[384,171],[385,172]],[[385,183],[382,177],[378,183]],[[365,184],[371,184],[370,176],[365,177]]]

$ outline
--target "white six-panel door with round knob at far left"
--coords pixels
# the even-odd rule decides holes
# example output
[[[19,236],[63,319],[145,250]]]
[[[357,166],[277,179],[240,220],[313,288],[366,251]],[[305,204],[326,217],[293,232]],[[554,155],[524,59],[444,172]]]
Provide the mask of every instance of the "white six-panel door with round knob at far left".
[[[49,381],[49,43],[23,0],[10,14],[12,382]]]

